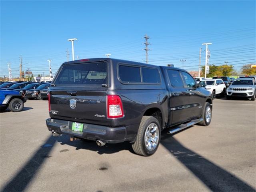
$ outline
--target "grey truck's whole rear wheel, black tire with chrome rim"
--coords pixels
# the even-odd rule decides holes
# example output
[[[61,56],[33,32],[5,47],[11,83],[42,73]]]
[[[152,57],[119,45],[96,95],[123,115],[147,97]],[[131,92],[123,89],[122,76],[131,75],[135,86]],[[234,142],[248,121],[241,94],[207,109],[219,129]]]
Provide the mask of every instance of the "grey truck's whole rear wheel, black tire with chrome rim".
[[[158,120],[152,116],[143,116],[136,141],[132,144],[132,149],[138,155],[150,156],[156,152],[160,144],[160,139],[161,128]],[[152,140],[154,140],[154,142]],[[146,141],[148,141],[150,145],[146,144]]]

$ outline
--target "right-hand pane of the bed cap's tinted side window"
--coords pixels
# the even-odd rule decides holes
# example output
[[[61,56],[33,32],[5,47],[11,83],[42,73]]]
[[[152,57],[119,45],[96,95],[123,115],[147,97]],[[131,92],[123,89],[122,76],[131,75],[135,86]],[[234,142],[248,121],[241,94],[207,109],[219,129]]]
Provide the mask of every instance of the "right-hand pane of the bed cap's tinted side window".
[[[142,67],[142,80],[144,83],[161,83],[157,69]]]

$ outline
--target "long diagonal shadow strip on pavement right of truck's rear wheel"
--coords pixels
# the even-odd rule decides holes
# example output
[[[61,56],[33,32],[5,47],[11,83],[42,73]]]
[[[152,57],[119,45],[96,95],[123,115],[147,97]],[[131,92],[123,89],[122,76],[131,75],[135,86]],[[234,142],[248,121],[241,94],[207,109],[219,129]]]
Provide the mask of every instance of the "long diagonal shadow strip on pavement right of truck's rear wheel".
[[[161,144],[211,191],[256,191],[233,174],[186,148],[172,135],[163,133]]]

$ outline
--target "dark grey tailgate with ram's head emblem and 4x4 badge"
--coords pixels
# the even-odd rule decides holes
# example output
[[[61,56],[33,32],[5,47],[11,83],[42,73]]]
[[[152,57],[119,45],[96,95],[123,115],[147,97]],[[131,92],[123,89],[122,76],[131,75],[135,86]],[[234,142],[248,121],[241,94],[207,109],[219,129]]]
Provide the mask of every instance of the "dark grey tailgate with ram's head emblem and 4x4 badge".
[[[106,90],[57,91],[50,94],[52,118],[77,122],[107,122]]]

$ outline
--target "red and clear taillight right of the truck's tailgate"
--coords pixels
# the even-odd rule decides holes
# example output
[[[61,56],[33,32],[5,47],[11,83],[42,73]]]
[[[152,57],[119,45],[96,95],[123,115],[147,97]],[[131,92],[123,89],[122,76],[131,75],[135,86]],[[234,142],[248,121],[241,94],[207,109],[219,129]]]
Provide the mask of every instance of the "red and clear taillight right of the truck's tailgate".
[[[124,110],[120,96],[108,95],[107,107],[108,118],[119,118],[124,116]]]

